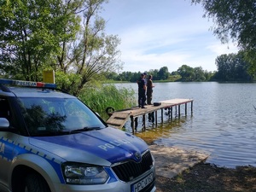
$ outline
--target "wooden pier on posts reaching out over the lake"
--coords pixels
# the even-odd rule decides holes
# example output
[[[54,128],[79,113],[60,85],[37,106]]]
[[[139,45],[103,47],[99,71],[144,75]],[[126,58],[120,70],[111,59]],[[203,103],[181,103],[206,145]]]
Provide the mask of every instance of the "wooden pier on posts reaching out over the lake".
[[[154,105],[146,105],[146,108],[126,108],[119,111],[114,111],[109,119],[107,120],[107,124],[111,125],[115,128],[122,128],[125,125],[125,122],[128,119],[131,119],[131,128],[132,133],[135,131],[135,124],[137,117],[143,116],[143,130],[146,129],[146,114],[150,113],[154,115],[154,123],[157,125],[157,112],[161,111],[161,120],[163,121],[164,117],[164,109],[168,110],[169,117],[172,119],[172,108],[175,107],[177,109],[177,114],[180,116],[180,106],[185,105],[185,114],[187,114],[187,104],[191,103],[191,113],[193,112],[193,100],[192,99],[171,99],[166,101],[157,102],[160,103],[158,106]]]

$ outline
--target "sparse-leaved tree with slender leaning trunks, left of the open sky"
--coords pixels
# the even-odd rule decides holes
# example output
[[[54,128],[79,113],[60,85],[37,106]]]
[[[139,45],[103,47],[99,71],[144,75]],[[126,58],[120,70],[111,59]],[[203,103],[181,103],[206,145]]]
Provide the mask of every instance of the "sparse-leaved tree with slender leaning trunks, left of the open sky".
[[[57,66],[60,77],[66,75],[67,78],[59,79],[59,84],[62,89],[71,91],[74,95],[83,90],[84,84],[101,79],[102,74],[122,67],[117,49],[120,39],[104,33],[106,22],[98,16],[104,2],[108,1],[84,1],[81,35],[72,44],[68,41],[62,43],[62,54],[58,56]]]

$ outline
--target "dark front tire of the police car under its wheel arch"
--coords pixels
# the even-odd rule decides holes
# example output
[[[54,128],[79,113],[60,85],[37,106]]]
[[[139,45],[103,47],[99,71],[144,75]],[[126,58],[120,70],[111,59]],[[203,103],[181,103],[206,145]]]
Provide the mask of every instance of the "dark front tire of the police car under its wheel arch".
[[[38,174],[29,174],[25,179],[25,192],[50,192],[44,178]]]

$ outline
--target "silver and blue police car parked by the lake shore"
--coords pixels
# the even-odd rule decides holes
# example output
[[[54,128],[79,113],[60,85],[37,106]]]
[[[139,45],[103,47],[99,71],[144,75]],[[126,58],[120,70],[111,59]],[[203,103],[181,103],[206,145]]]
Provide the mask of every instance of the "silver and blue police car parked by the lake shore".
[[[154,179],[142,139],[55,84],[0,79],[0,191],[154,192]]]

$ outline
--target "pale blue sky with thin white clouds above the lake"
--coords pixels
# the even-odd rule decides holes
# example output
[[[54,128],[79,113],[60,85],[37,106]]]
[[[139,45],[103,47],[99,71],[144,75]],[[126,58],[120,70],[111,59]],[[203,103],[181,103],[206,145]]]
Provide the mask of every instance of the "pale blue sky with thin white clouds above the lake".
[[[201,4],[190,0],[109,0],[101,16],[105,32],[118,35],[125,72],[148,72],[182,65],[217,70],[219,55],[237,53],[236,44],[221,44]]]

